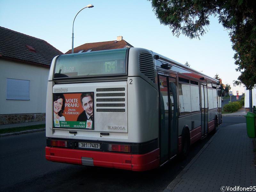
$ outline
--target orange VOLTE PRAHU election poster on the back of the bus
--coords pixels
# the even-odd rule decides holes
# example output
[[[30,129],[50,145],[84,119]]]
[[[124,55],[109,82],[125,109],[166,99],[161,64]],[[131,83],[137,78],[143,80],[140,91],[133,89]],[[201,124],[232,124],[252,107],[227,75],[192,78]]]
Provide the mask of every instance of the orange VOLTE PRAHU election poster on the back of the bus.
[[[53,127],[94,129],[93,92],[53,93]]]

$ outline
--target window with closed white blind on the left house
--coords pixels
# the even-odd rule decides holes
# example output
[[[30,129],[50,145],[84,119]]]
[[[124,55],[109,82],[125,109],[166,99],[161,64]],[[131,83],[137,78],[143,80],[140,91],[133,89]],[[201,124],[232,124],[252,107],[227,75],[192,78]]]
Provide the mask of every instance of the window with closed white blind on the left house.
[[[7,100],[29,100],[28,80],[7,78],[6,99]]]

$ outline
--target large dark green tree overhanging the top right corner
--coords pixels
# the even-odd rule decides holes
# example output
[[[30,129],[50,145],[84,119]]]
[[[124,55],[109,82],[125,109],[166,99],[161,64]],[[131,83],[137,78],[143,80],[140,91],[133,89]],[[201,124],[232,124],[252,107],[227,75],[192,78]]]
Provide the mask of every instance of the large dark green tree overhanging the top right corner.
[[[234,84],[246,89],[256,86],[256,6],[253,0],[149,0],[161,24],[172,34],[198,38],[207,32],[209,16],[218,17],[229,32],[235,51],[236,71],[241,72]]]

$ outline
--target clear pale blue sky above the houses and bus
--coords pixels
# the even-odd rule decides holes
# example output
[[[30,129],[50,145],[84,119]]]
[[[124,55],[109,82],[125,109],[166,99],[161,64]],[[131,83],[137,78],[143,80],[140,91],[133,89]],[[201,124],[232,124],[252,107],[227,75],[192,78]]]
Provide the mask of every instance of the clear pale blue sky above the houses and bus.
[[[47,41],[61,52],[71,49],[72,24],[76,13],[88,4],[93,8],[82,10],[74,23],[74,47],[84,43],[113,41],[117,36],[134,47],[142,47],[208,76],[216,73],[231,91],[244,92],[234,87],[233,80],[240,75],[235,71],[234,51],[228,32],[210,18],[208,32],[198,39],[183,35],[172,36],[168,26],[160,25],[147,0],[0,0],[0,26]]]

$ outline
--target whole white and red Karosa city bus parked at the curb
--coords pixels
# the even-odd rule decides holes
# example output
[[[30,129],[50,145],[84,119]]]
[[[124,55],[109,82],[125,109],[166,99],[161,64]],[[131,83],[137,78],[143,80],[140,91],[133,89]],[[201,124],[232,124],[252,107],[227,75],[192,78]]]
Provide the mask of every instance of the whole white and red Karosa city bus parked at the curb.
[[[146,171],[221,124],[220,83],[142,48],[56,56],[46,104],[49,161]]]

